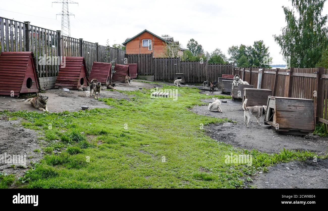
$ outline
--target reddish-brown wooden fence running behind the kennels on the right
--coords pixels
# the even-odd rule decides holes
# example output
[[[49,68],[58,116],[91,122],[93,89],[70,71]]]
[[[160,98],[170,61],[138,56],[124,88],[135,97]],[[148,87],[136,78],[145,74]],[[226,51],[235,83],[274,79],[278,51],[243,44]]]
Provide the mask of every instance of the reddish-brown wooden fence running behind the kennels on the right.
[[[234,74],[254,88],[271,89],[273,96],[303,98],[314,101],[317,122],[328,125],[328,69],[294,68],[265,69],[234,68]],[[258,86],[259,85],[259,86]]]

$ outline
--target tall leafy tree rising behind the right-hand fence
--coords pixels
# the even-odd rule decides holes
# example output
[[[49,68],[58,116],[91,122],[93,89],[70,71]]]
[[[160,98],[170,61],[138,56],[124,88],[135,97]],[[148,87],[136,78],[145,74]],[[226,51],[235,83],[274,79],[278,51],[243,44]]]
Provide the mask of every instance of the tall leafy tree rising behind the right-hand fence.
[[[326,0],[291,1],[293,9],[282,7],[287,25],[275,41],[292,67],[315,67],[328,44],[327,15],[321,15]]]

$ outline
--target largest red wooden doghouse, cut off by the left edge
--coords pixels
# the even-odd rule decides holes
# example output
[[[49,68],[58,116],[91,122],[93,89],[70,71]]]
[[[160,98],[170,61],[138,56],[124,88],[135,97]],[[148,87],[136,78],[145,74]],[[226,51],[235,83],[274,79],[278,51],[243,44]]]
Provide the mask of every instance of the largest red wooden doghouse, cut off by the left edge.
[[[39,92],[40,82],[31,51],[2,52],[0,55],[0,94],[17,96]]]

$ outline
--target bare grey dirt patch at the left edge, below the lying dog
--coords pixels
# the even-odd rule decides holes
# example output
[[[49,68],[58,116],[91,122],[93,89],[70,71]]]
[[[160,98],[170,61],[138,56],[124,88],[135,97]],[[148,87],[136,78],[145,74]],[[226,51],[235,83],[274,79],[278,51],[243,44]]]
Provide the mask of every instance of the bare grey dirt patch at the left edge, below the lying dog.
[[[7,174],[15,174],[16,178],[24,175],[30,162],[38,162],[42,158],[42,152],[33,152],[34,149],[40,149],[37,132],[31,129],[23,128],[20,120],[0,120],[0,155],[7,153],[9,155],[26,156],[26,163],[0,163],[0,171]],[[15,165],[15,168],[11,165]]]

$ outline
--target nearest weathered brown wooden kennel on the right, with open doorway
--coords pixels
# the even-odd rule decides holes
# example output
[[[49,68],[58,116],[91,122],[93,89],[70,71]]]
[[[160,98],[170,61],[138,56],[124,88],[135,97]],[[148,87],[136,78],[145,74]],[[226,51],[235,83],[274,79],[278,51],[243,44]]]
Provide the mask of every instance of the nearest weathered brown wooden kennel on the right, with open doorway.
[[[264,122],[277,132],[307,135],[315,129],[313,100],[268,97]]]

